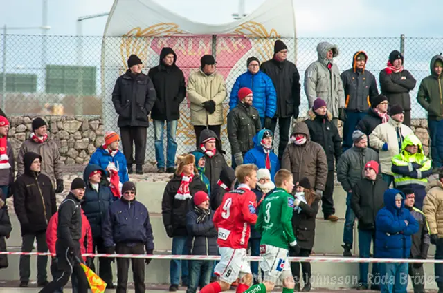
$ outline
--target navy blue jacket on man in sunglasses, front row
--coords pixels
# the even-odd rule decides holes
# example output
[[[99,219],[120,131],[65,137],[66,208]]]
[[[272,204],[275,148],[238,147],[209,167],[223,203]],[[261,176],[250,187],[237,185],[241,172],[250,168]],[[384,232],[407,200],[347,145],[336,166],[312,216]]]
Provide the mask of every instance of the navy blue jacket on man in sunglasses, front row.
[[[150,214],[143,203],[123,197],[112,203],[103,223],[105,247],[116,243],[143,243],[146,252],[154,250]]]

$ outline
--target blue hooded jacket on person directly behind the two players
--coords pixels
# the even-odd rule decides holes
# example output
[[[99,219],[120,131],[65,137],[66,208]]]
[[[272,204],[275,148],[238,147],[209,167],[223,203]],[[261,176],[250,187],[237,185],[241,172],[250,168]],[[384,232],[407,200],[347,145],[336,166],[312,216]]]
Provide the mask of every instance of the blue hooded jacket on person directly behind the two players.
[[[244,155],[243,164],[255,164],[257,165],[258,169],[266,168],[266,153],[264,153],[261,144],[263,133],[266,130],[267,129],[262,129],[261,131],[258,131],[258,133],[254,136],[254,148],[249,150]],[[278,160],[277,155],[275,155],[272,150],[269,153],[269,160],[271,161],[271,180],[273,181],[275,173],[280,170],[280,161]]]

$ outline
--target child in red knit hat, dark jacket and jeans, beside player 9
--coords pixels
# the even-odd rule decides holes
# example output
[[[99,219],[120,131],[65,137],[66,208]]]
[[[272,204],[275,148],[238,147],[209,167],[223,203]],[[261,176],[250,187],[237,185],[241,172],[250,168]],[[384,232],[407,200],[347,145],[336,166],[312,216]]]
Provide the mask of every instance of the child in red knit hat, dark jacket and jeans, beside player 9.
[[[209,207],[209,196],[205,191],[197,191],[194,207],[186,215],[188,242],[191,255],[215,256],[218,254],[217,229],[213,223],[214,211]],[[190,261],[189,285],[186,293],[195,293],[197,287],[210,283],[214,261]]]

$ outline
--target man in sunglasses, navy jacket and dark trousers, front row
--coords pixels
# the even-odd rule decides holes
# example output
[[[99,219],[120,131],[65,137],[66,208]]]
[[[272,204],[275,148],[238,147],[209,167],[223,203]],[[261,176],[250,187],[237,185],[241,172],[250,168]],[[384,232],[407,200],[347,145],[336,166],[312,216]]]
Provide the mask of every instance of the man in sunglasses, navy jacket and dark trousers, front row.
[[[154,236],[150,214],[143,203],[136,200],[134,182],[123,183],[122,197],[109,207],[103,238],[108,254],[153,254]],[[117,292],[126,292],[129,261],[132,263],[136,292],[145,292],[145,265],[143,258],[117,258]],[[145,258],[149,265],[151,258]]]

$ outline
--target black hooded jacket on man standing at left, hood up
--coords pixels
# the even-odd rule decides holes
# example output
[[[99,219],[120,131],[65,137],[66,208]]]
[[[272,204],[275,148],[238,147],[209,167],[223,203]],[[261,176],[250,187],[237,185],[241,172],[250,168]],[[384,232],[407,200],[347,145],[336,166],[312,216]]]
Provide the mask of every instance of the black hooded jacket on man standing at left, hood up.
[[[30,170],[34,160],[42,157],[28,152],[24,155],[24,173],[12,186],[14,209],[21,226],[21,235],[46,231],[51,216],[57,211],[55,191],[48,176]]]

